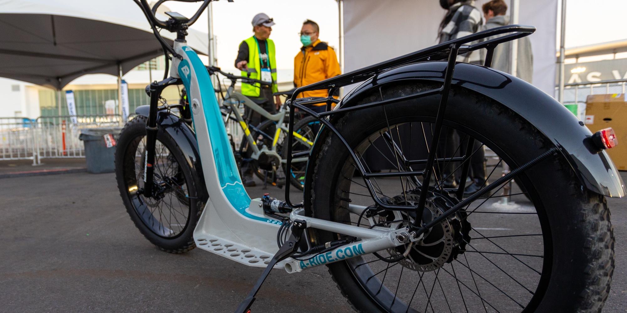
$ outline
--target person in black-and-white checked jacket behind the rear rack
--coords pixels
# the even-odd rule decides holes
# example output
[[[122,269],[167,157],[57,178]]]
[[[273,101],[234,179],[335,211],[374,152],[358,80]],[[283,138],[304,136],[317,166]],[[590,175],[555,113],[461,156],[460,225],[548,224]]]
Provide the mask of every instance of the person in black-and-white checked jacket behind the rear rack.
[[[440,6],[448,10],[440,22],[440,43],[477,33],[483,24],[481,12],[475,7],[474,0],[440,0]],[[476,51],[457,57],[460,62],[477,63],[479,60]]]

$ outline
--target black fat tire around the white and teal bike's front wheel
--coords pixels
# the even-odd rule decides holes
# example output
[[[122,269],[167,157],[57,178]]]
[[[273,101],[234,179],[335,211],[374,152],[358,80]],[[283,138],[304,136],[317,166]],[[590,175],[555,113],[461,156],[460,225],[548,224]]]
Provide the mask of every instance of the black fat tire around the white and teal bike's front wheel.
[[[189,193],[188,220],[186,227],[181,233],[175,237],[163,237],[147,227],[139,217],[132,202],[132,195],[129,192],[129,182],[134,179],[131,175],[136,175],[131,169],[135,167],[135,150],[137,145],[139,145],[138,141],[146,135],[146,121],[147,118],[145,116],[137,116],[122,128],[115,151],[115,178],[122,202],[127,209],[127,213],[129,213],[130,219],[135,223],[135,227],[159,249],[173,254],[181,254],[196,247],[193,237],[194,228],[196,228],[196,224],[203,212],[204,203],[198,199],[199,193],[192,177],[191,168],[187,165],[181,150],[179,150],[171,136],[166,131],[162,131],[162,128],[159,128],[159,131],[157,131],[157,143],[164,145],[171,155],[174,156],[181,168],[182,177],[187,186],[187,193]]]

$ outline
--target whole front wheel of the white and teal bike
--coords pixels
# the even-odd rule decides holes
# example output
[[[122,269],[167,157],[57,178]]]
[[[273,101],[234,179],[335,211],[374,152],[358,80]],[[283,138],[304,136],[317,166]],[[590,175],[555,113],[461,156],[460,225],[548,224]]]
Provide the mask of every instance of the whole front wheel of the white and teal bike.
[[[154,195],[144,197],[146,120],[129,121],[117,142],[115,178],[120,196],[139,231],[166,252],[182,253],[196,247],[194,228],[203,212],[192,171],[181,150],[165,132],[157,132]]]

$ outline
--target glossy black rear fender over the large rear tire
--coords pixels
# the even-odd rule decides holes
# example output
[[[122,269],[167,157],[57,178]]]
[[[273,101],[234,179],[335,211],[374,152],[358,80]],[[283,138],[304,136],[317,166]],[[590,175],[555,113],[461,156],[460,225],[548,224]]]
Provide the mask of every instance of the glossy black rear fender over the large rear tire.
[[[372,88],[408,80],[443,83],[446,62],[414,63],[390,69],[364,81],[350,91],[338,108],[355,106]],[[534,125],[554,143],[572,166],[587,189],[609,197],[623,197],[626,189],[614,163],[605,151],[596,153],[586,148],[584,141],[592,133],[565,106],[526,81],[485,66],[458,63],[452,84],[475,91],[507,106]],[[321,132],[322,133],[322,132]],[[316,142],[311,155],[322,143]],[[309,162],[307,175],[315,162]],[[309,180],[307,180],[309,181]]]

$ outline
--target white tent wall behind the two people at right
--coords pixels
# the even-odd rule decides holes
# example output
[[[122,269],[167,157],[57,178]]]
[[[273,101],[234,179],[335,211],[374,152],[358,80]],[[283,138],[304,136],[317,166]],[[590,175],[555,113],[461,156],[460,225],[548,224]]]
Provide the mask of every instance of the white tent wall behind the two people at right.
[[[488,0],[477,1],[477,8]],[[437,0],[343,0],[344,71],[391,59],[438,43],[445,11]],[[505,0],[509,4],[508,0]],[[534,85],[554,95],[557,0],[520,1],[519,24],[535,26]],[[345,90],[346,92],[347,90]]]

